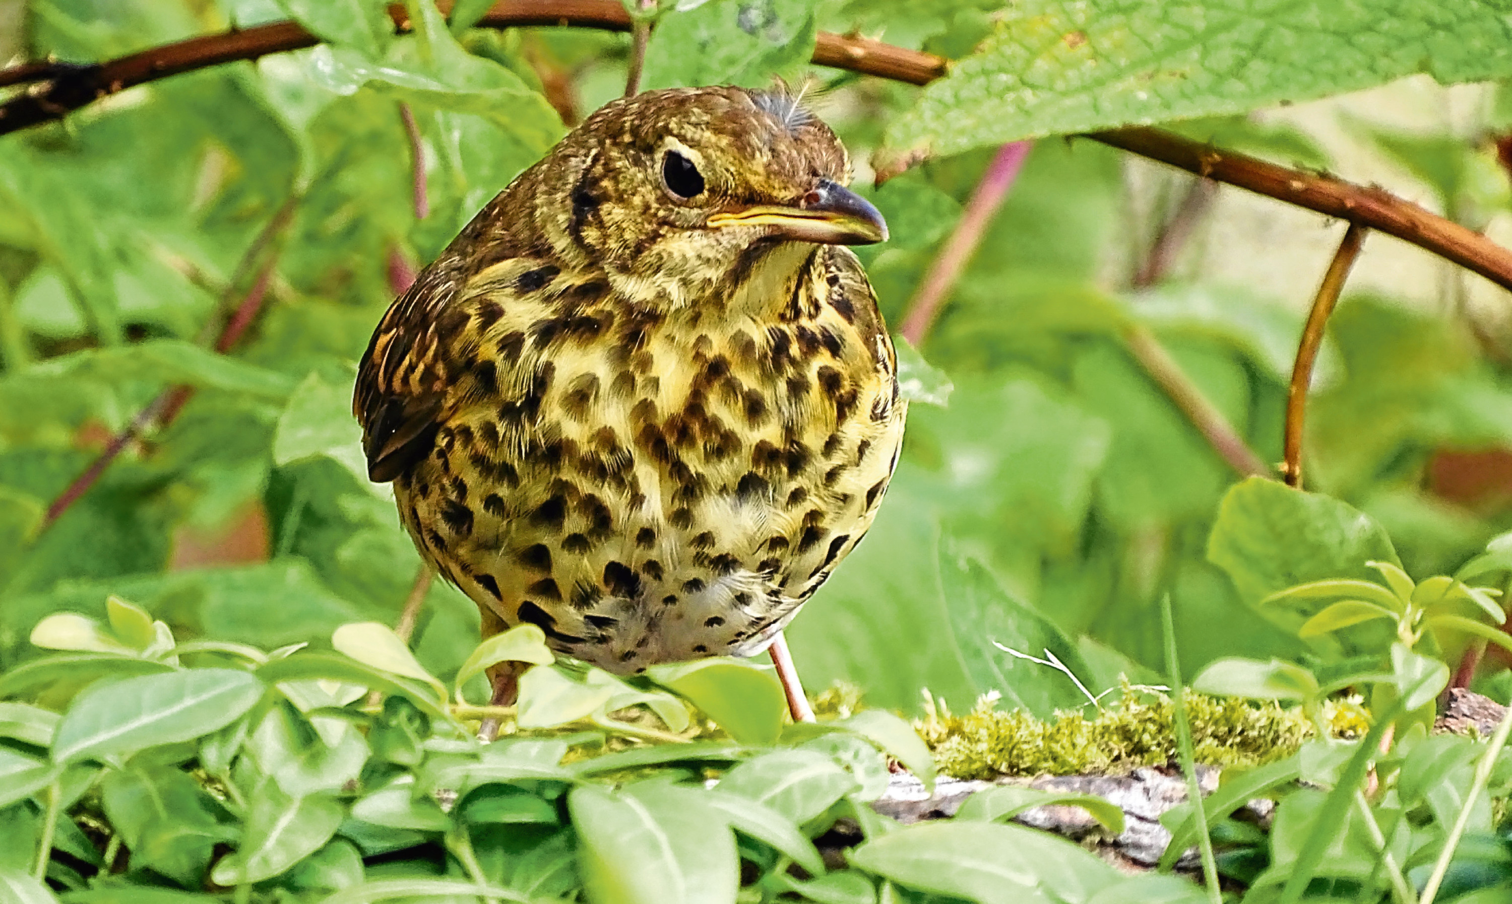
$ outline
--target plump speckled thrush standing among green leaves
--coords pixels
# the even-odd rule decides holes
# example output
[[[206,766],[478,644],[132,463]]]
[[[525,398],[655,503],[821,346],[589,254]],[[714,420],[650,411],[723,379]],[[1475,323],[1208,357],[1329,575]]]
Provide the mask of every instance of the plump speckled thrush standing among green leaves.
[[[631,674],[773,647],[871,526],[903,437],[845,245],[888,227],[785,91],[617,100],[520,174],[373,333],[354,411],[484,635]],[[511,703],[514,673],[490,673]]]

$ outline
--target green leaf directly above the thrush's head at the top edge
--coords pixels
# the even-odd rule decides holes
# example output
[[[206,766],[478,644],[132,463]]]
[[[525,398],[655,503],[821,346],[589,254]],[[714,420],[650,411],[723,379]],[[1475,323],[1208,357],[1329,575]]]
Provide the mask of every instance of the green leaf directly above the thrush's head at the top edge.
[[[798,83],[813,56],[813,5],[804,0],[711,0],[656,23],[646,44],[644,88],[741,85],[773,76]]]

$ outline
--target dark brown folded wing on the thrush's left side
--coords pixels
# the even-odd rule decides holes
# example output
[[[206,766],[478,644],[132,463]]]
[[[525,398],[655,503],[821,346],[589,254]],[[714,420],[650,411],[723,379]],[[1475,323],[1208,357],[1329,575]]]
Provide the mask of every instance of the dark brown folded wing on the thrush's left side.
[[[420,274],[380,320],[357,370],[352,414],[363,425],[367,476],[387,482],[431,454],[445,417],[467,313],[463,274],[442,260]],[[463,358],[466,360],[466,358]]]

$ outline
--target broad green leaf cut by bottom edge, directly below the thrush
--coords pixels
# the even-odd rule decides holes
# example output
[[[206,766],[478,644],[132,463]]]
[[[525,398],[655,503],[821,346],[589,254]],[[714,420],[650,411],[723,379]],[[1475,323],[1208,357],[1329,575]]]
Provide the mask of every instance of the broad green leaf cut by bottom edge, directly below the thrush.
[[[735,839],[712,807],[656,782],[567,795],[594,904],[727,904],[739,869]]]

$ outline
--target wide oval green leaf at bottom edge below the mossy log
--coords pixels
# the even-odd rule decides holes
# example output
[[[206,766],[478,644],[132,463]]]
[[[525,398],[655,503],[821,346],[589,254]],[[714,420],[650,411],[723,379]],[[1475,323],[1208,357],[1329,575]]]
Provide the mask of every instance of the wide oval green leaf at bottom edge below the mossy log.
[[[1080,902],[1117,880],[1069,841],[980,821],[909,825],[868,839],[850,859],[898,884],[980,904]]]

